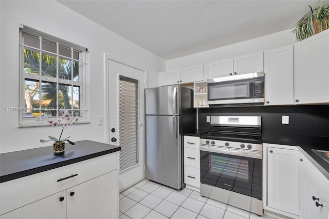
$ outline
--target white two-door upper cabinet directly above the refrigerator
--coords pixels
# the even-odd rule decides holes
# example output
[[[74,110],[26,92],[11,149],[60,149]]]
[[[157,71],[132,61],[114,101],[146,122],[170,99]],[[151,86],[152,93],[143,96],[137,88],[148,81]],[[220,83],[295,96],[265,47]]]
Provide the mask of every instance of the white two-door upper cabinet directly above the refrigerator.
[[[159,72],[159,87],[204,80],[204,64]]]

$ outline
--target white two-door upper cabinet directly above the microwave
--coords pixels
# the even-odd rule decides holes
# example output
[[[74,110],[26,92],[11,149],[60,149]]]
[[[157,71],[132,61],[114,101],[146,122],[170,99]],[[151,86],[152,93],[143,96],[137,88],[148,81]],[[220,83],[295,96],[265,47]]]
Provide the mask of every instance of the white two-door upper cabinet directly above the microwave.
[[[263,52],[226,58],[209,63],[209,78],[264,71]]]

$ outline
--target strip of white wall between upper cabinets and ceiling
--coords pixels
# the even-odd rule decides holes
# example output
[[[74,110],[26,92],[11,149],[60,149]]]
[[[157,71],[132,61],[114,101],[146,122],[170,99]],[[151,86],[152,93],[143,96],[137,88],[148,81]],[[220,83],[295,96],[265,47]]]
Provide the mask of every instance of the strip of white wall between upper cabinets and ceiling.
[[[167,70],[188,67],[202,63],[206,64],[224,58],[293,45],[294,43],[296,43],[296,35],[291,33],[291,30],[285,30],[225,47],[168,60]],[[208,66],[205,66],[205,70],[206,69],[208,70]]]

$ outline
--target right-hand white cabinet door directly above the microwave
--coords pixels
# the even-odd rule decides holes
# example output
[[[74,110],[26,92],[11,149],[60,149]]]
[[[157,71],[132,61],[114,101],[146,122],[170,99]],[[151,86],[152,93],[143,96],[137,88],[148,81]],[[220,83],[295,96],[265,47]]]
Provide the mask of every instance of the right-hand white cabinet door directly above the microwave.
[[[234,74],[264,71],[264,53],[257,52],[234,57],[233,64]]]

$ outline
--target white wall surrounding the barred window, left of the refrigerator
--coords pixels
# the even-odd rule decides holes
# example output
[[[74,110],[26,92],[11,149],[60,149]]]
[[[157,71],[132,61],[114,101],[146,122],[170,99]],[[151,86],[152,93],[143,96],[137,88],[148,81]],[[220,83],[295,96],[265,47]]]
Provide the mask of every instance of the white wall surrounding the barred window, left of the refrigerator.
[[[105,114],[104,53],[148,70],[148,87],[158,84],[158,71],[166,61],[90,21],[56,1],[0,1],[0,108],[19,106],[19,24],[48,33],[90,49],[90,124],[69,127],[71,141],[92,140],[106,143],[105,124],[97,117]],[[19,128],[19,113],[0,112],[0,153],[44,147],[39,142],[60,128]]]

